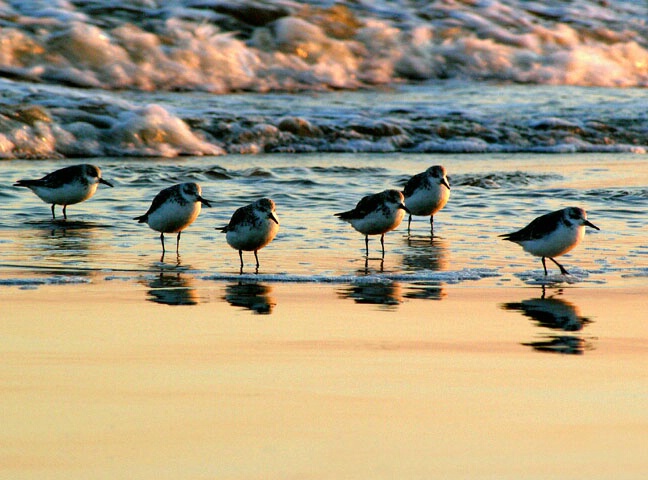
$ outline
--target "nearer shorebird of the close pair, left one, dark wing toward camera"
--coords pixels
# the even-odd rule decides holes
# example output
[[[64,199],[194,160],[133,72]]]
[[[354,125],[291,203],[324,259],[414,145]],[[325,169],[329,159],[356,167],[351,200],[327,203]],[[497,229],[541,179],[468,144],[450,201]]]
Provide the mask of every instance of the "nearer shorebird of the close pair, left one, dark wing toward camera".
[[[403,194],[398,190],[385,190],[363,197],[353,210],[335,216],[349,222],[365,236],[365,250],[369,257],[369,235],[380,235],[382,256],[385,256],[385,233],[400,225],[409,209],[403,204]]]

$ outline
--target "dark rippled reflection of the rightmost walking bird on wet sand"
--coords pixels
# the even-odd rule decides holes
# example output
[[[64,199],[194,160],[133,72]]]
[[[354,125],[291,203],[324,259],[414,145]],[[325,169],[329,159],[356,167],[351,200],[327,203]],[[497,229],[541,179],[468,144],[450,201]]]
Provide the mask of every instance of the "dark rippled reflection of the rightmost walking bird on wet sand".
[[[556,295],[562,294],[559,290]],[[580,314],[580,309],[571,302],[552,295],[545,296],[545,288],[542,288],[540,298],[531,298],[522,302],[504,303],[501,308],[504,310],[519,311],[525,317],[535,321],[542,328],[557,330],[560,332],[580,332],[592,321]],[[582,335],[569,334],[544,334],[541,340],[523,343],[522,345],[532,347],[541,352],[565,353],[582,355],[593,346]]]

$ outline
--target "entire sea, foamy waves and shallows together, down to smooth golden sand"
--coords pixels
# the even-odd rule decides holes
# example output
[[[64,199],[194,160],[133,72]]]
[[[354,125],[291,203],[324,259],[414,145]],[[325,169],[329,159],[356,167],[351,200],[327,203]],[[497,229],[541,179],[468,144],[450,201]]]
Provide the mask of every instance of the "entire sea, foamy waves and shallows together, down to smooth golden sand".
[[[236,5],[236,8],[233,6]],[[23,288],[96,276],[238,278],[215,227],[261,196],[281,230],[255,281],[627,285],[648,275],[641,1],[0,3],[0,268]],[[12,186],[99,165],[67,222]],[[337,220],[443,164],[452,195],[411,236]],[[160,259],[133,217],[169,185],[214,202]],[[569,278],[497,238],[569,205],[601,228]],[[173,236],[167,236],[172,244]],[[44,280],[44,278],[46,280]],[[412,287],[414,288],[414,287]],[[426,290],[428,289],[428,290]],[[428,293],[426,293],[428,292]]]

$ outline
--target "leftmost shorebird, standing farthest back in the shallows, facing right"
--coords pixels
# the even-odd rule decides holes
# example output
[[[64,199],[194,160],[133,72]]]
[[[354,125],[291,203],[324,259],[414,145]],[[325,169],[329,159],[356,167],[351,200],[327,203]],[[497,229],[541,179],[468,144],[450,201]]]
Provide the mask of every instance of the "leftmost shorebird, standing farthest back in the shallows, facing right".
[[[67,220],[67,206],[92,197],[100,183],[112,187],[101,178],[101,169],[95,165],[82,164],[61,168],[38,180],[18,180],[14,187],[26,187],[45,203],[52,204],[52,219],[56,220],[55,205],[63,205],[63,218]]]

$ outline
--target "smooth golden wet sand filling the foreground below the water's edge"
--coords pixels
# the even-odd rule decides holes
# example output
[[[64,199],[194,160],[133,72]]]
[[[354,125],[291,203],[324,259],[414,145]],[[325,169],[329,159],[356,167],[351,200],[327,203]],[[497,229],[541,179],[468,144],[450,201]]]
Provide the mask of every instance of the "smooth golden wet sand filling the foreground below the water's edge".
[[[647,294],[3,287],[0,477],[643,478]]]

